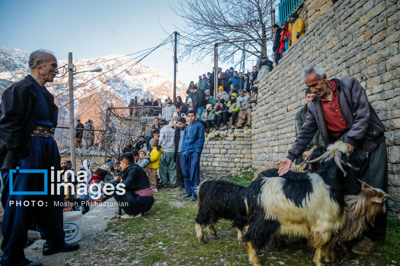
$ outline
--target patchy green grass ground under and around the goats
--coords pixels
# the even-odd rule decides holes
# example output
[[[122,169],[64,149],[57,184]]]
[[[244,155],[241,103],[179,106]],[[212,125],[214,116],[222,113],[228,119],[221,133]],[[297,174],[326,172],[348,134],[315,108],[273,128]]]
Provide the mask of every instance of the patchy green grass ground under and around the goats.
[[[254,170],[251,166],[247,169]],[[248,185],[254,173],[242,172],[228,175],[226,179],[240,185]],[[248,262],[246,248],[237,241],[237,230],[231,228],[230,222],[220,220],[215,226],[219,239],[214,240],[207,230],[204,230],[205,243],[198,244],[194,219],[197,214],[198,202],[190,203],[180,196],[184,191],[160,189],[154,194],[156,200],[152,209],[140,218],[122,220],[114,218],[108,224],[108,234],[118,234],[113,243],[123,243],[126,247],[119,252],[120,262],[130,265],[251,265]],[[110,236],[110,235],[108,235]],[[113,236],[113,235],[111,235]],[[300,239],[290,240],[288,248],[273,252],[270,245],[260,252],[259,258],[263,266],[309,266],[314,265],[312,258],[314,250],[301,242]],[[400,222],[389,220],[386,242],[377,244],[376,251],[367,256],[354,254],[354,260],[344,258],[338,252],[344,266],[390,266],[400,263]],[[396,261],[396,264],[393,261]],[[100,265],[107,265],[99,262]],[[325,265],[330,265],[326,263]]]

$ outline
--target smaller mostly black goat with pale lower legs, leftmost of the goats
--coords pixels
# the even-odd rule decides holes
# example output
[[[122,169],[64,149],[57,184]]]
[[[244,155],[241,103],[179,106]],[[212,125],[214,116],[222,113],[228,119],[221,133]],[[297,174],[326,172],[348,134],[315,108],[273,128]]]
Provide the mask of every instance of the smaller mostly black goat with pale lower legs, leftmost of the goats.
[[[232,227],[238,229],[238,241],[243,243],[243,228],[247,221],[244,204],[246,191],[247,187],[222,179],[200,183],[196,191],[199,204],[195,220],[200,244],[204,244],[205,227],[208,227],[214,239],[217,238],[214,224],[221,218],[232,221]]]

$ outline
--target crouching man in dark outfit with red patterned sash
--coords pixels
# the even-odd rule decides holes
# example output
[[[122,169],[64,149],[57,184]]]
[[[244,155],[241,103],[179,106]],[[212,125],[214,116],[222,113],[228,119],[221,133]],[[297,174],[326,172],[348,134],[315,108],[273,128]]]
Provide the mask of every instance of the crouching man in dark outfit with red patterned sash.
[[[153,206],[153,189],[150,187],[146,172],[134,164],[133,153],[122,153],[120,166],[122,167],[121,183],[125,185],[125,193],[119,195],[114,192],[113,196],[125,211],[125,214],[121,216],[122,219],[138,218]]]

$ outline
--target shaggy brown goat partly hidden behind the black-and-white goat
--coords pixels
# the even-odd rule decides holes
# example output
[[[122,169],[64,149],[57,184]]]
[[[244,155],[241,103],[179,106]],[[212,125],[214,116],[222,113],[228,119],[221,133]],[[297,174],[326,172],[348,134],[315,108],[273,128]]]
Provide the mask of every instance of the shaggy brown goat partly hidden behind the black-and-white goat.
[[[346,242],[357,238],[368,227],[368,224],[374,226],[376,216],[386,212],[387,195],[384,191],[375,189],[364,182],[361,183],[362,189],[358,195],[345,197],[347,208],[344,226],[340,232],[332,235],[325,250],[325,260],[334,265],[340,265],[335,246],[342,246],[346,258],[351,259],[352,254],[349,252]]]

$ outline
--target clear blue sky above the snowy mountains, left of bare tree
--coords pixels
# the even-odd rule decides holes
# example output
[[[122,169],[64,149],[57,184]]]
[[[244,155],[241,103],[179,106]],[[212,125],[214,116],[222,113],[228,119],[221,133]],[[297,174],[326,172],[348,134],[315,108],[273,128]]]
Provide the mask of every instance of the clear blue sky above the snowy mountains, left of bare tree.
[[[44,48],[59,60],[132,54],[157,46],[183,24],[169,4],[177,1],[27,1],[0,0],[0,45],[32,52]],[[168,34],[166,34],[162,28]],[[173,75],[171,45],[159,48],[142,63]],[[179,58],[178,58],[179,59]],[[177,79],[188,82],[210,71],[212,58],[193,65],[180,61]]]

